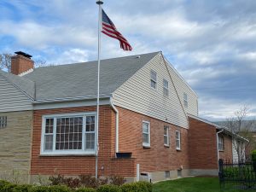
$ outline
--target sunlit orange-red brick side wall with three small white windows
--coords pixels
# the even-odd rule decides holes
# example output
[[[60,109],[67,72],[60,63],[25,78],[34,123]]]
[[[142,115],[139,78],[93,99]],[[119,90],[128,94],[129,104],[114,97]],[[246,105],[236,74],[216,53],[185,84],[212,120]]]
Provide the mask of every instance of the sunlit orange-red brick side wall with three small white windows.
[[[119,110],[119,151],[132,152],[141,172],[163,172],[189,168],[188,130],[124,108]],[[143,120],[150,122],[150,148],[143,148]],[[164,125],[171,136],[164,146]],[[176,150],[175,131],[181,131],[181,151]]]

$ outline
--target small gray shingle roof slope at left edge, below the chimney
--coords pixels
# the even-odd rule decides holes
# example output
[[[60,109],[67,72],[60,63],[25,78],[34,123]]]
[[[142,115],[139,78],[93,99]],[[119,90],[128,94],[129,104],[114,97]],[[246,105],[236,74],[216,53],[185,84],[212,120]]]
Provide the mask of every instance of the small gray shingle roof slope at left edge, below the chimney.
[[[34,98],[35,83],[32,80],[25,79],[11,73],[6,73],[2,70],[0,70],[0,76],[8,80],[9,83],[14,84],[16,88],[23,91],[27,96]]]

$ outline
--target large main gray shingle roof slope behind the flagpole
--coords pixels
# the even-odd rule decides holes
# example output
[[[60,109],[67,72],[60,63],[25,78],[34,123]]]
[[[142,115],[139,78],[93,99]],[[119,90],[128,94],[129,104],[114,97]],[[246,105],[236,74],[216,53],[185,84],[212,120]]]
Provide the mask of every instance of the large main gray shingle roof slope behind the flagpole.
[[[101,61],[100,95],[110,95],[160,52]],[[36,83],[36,100],[96,96],[97,61],[39,67],[23,76]]]

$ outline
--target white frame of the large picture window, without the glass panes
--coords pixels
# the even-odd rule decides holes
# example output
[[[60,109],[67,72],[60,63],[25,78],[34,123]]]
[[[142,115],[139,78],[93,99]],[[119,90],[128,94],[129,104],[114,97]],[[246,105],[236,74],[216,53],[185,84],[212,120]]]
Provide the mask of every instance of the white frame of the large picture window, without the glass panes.
[[[80,155],[95,155],[96,154],[96,138],[95,138],[95,148],[91,150],[85,150],[85,126],[86,126],[86,116],[95,116],[96,122],[96,112],[89,112],[89,113],[62,113],[62,114],[51,114],[51,115],[43,115],[42,116],[42,129],[41,129],[41,155],[73,155],[73,154],[80,154]],[[56,119],[57,118],[73,118],[73,117],[83,117],[83,129],[82,129],[82,149],[66,149],[66,150],[55,150],[55,139],[56,139]],[[53,150],[44,150],[44,136],[45,134],[45,125],[46,119],[54,119],[54,130],[53,130]],[[95,137],[96,137],[96,127],[95,127]]]

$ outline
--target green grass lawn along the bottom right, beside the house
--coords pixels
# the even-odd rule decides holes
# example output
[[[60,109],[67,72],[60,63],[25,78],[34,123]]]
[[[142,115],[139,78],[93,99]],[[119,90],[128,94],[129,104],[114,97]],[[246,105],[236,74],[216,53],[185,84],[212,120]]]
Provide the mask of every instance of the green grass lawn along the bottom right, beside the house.
[[[154,183],[154,192],[218,192],[221,191],[218,177],[187,177],[176,180]],[[226,185],[224,192],[255,192],[239,190],[232,184]]]

